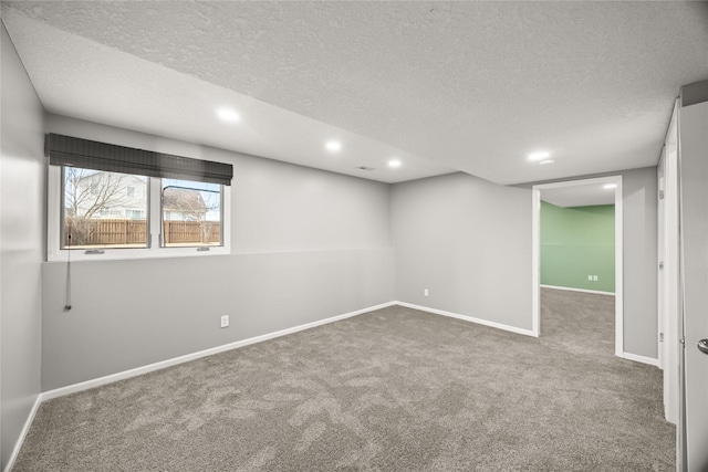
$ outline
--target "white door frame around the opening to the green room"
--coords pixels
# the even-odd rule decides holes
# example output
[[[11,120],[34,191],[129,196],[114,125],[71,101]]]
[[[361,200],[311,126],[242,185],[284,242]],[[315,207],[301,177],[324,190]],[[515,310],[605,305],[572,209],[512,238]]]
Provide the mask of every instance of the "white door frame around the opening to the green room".
[[[594,183],[615,183],[615,356],[624,354],[624,284],[623,284],[623,209],[622,176],[597,177],[582,180],[566,180],[553,183],[540,183],[531,188],[532,201],[532,322],[533,336],[541,334],[541,191],[562,187],[580,187]]]

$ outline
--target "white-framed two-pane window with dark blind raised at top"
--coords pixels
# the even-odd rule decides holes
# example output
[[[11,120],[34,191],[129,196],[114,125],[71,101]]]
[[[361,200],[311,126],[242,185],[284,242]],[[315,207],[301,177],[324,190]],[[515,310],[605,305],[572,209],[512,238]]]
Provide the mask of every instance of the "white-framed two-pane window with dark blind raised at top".
[[[70,141],[62,147],[63,141],[52,138]],[[96,146],[108,148],[96,151]],[[94,260],[228,253],[229,186],[221,182],[230,183],[230,165],[145,156],[139,149],[56,135],[48,135],[48,148],[49,260],[65,260],[69,252],[72,259]],[[102,150],[110,156],[107,164],[101,160]],[[116,159],[116,154],[132,151],[139,159]],[[88,160],[85,154],[91,153]],[[153,158],[157,171],[140,167]],[[210,175],[215,168],[222,176]]]

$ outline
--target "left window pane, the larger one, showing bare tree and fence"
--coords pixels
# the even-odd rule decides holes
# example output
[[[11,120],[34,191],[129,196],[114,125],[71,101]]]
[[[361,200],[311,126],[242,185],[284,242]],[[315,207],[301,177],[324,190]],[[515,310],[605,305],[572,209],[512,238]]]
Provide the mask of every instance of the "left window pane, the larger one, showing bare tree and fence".
[[[147,248],[147,177],[76,167],[63,174],[62,249]]]

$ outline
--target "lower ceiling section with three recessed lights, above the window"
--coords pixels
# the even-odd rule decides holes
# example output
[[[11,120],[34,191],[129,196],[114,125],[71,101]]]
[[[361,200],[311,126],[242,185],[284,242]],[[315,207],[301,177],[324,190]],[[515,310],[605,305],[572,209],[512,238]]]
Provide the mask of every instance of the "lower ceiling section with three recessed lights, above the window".
[[[4,19],[11,20],[13,42],[51,113],[384,182],[454,170],[25,17],[9,13]],[[239,111],[240,123],[217,117],[216,109],[223,105]],[[115,135],[101,137],[112,139]],[[326,151],[324,144],[331,139],[344,148]],[[388,168],[391,158],[405,166]],[[376,170],[360,170],[362,166]]]

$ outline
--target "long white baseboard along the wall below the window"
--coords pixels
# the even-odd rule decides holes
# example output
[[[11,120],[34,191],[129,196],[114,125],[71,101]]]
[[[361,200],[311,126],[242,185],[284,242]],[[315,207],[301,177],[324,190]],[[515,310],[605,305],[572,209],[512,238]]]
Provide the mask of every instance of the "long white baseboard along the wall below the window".
[[[103,385],[113,384],[114,381],[124,380],[131,377],[136,377],[143,374],[152,373],[154,370],[164,369],[166,367],[176,366],[178,364],[187,363],[190,360],[199,359],[201,357],[211,356],[215,354],[223,353],[226,350],[236,349],[239,347],[248,346],[256,343],[261,343],[263,340],[273,339],[275,337],[285,336],[289,334],[298,333],[303,329],[310,329],[315,326],[325,325],[329,323],[339,322],[340,319],[350,318],[352,316],[361,315],[363,313],[373,312],[375,310],[385,308],[387,306],[395,305],[396,302],[382,303],[381,305],[369,306],[367,308],[357,310],[355,312],[345,313],[343,315],[332,316],[330,318],[319,319],[316,322],[306,323],[304,325],[294,326],[291,328],[285,328],[281,331],[277,331],[273,333],[268,333],[261,336],[250,337],[248,339],[237,340],[235,343],[225,344],[217,347],[211,347],[209,349],[199,350],[197,353],[186,354],[184,356],[174,357],[171,359],[160,360],[159,363],[149,364],[147,366],[136,367],[134,369],[124,370],[122,373],[111,374],[104,377],[98,377],[95,379],[82,381],[80,384],[70,385],[66,387],[60,387],[54,390],[45,391],[41,395],[42,401],[51,400],[52,398],[63,397],[64,395],[75,394],[77,391],[87,390],[90,388],[101,387]]]

